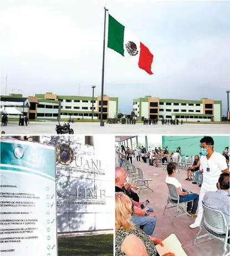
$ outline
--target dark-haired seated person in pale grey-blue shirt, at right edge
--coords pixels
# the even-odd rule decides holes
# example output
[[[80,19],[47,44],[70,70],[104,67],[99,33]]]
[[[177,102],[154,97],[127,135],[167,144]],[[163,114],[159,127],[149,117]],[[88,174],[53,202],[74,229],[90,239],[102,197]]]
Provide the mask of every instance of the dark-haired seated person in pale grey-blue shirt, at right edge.
[[[217,183],[217,191],[208,191],[203,197],[203,204],[212,209],[220,210],[230,225],[229,173],[222,173]],[[228,232],[229,235],[229,232]],[[229,244],[229,238],[228,238]]]

